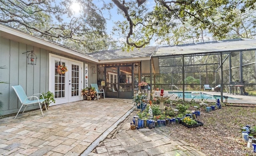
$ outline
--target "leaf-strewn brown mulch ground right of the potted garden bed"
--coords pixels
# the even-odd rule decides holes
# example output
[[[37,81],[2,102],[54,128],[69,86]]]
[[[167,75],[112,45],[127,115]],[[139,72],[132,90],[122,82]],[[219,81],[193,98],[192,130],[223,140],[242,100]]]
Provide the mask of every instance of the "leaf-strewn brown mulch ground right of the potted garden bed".
[[[252,150],[246,148],[241,128],[256,125],[256,107],[245,106],[222,106],[222,109],[210,113],[200,108],[201,115],[197,120],[203,122],[203,126],[187,128],[182,124],[175,124],[161,129],[208,156],[250,156],[253,155]]]

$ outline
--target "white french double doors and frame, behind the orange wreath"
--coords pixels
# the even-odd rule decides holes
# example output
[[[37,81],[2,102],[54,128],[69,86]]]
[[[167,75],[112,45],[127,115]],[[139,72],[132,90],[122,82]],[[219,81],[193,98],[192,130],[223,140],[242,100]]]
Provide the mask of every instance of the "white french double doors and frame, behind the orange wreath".
[[[67,66],[68,71],[58,74],[58,65]],[[50,55],[49,90],[54,92],[56,104],[64,104],[81,100],[83,63],[54,54]]]

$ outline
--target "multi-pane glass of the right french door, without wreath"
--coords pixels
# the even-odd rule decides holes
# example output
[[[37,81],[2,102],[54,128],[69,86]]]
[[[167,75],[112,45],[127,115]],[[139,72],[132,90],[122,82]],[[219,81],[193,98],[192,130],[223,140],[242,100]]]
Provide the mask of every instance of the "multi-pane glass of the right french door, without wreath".
[[[72,64],[71,96],[79,96],[79,66]]]

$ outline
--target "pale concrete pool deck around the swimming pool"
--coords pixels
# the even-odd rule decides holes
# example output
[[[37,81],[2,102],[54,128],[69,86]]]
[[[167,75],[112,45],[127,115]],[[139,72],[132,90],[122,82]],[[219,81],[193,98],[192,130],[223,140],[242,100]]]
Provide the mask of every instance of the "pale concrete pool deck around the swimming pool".
[[[177,100],[176,96],[173,94],[168,94],[168,92],[177,92],[177,91],[170,91],[170,90],[165,90],[164,95],[170,95],[171,100]],[[182,92],[182,91],[178,91]],[[186,91],[186,92],[193,92],[193,91]],[[215,96],[220,96],[220,92],[212,92],[212,91],[196,91],[196,92],[201,92],[204,94],[209,94],[209,95],[215,95]],[[160,91],[156,91],[156,94],[159,95]],[[232,98],[239,98],[240,100],[231,100],[228,98],[228,103],[233,103],[233,104],[256,104],[256,96],[248,96],[248,95],[236,95],[236,94],[229,94],[229,93],[223,93],[223,96],[228,96]],[[182,99],[182,98],[180,98]],[[185,98],[187,101],[191,101],[191,98]],[[194,99],[195,101],[198,101],[199,99]],[[208,102],[215,102],[215,100],[210,100],[207,99]],[[225,102],[225,100],[223,100]]]

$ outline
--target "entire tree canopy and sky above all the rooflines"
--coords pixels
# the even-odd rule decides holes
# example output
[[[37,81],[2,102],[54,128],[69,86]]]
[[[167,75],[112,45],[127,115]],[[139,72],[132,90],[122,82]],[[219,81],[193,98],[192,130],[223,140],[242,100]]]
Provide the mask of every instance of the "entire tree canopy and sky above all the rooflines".
[[[76,14],[72,0],[0,0],[0,22],[81,52],[116,48],[106,34],[114,6],[124,20],[115,23],[113,34],[124,48],[256,36],[256,0],[154,0],[149,8],[152,2],[79,0]]]

